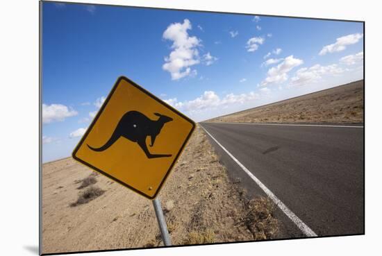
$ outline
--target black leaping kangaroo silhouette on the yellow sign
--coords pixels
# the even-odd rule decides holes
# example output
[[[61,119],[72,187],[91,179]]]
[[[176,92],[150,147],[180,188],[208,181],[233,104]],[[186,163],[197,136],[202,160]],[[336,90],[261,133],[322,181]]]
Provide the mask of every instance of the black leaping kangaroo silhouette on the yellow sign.
[[[117,127],[115,128],[113,135],[111,135],[110,139],[108,139],[108,142],[99,148],[93,148],[92,146],[89,146],[89,144],[88,147],[93,151],[105,151],[112,146],[114,142],[119,139],[119,137],[124,137],[131,140],[131,142],[137,142],[148,158],[170,157],[172,155],[151,154],[147,148],[147,136],[150,136],[150,146],[153,146],[156,137],[159,135],[160,130],[162,130],[165,123],[173,120],[171,117],[166,117],[163,114],[154,114],[159,117],[158,120],[151,120],[149,117],[146,117],[138,111],[133,110],[126,112],[119,120]]]

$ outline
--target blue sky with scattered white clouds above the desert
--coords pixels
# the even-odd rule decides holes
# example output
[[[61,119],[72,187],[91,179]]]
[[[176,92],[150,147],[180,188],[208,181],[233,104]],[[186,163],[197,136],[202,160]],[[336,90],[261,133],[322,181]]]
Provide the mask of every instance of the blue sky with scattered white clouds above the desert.
[[[43,3],[43,162],[67,157],[119,76],[194,121],[363,78],[363,24]]]

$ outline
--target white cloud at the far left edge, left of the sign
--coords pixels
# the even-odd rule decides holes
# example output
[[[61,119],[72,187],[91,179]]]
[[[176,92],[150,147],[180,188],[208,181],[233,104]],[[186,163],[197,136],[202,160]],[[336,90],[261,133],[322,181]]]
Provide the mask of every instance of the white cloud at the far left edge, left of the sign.
[[[62,104],[42,104],[42,123],[51,123],[53,121],[64,121],[66,117],[73,117],[78,112],[69,109]]]

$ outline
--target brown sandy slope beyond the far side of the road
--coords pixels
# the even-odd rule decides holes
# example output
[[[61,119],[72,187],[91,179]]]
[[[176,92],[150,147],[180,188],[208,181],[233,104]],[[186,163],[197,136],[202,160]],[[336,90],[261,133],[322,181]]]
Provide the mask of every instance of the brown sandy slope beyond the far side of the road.
[[[210,119],[247,123],[363,123],[363,80]]]

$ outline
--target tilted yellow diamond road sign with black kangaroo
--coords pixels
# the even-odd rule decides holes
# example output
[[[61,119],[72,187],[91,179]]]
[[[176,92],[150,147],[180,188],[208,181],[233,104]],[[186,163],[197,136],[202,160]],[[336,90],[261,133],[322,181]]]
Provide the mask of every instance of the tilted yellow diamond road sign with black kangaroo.
[[[125,77],[120,77],[72,156],[153,199],[195,123]]]

